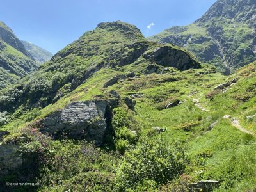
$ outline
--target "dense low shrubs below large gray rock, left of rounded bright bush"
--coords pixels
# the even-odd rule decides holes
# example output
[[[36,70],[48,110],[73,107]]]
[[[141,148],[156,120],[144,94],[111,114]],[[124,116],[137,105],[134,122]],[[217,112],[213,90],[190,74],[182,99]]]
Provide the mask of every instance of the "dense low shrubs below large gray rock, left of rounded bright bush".
[[[42,167],[41,191],[113,191],[116,157],[83,141],[55,141]]]

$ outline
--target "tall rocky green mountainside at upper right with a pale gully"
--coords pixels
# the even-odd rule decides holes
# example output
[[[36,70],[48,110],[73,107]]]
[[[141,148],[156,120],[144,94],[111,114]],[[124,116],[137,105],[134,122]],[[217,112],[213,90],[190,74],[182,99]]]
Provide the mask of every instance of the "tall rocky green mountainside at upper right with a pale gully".
[[[149,39],[185,47],[230,74],[255,61],[255,29],[255,0],[218,0],[193,24],[173,26]]]

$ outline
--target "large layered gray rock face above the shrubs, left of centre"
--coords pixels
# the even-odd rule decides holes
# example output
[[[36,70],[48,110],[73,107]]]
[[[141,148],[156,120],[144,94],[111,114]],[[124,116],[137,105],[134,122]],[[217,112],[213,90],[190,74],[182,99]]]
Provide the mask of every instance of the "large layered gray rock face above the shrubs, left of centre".
[[[102,100],[74,102],[44,118],[40,132],[56,138],[65,133],[69,138],[85,138],[100,145],[107,128],[107,108],[107,102]]]

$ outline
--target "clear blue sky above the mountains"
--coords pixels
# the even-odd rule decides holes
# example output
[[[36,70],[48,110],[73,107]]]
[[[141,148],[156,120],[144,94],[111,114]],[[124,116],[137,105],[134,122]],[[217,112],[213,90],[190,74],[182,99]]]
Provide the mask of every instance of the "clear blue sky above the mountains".
[[[145,36],[202,16],[215,0],[1,0],[0,20],[55,54],[99,22],[122,20]]]

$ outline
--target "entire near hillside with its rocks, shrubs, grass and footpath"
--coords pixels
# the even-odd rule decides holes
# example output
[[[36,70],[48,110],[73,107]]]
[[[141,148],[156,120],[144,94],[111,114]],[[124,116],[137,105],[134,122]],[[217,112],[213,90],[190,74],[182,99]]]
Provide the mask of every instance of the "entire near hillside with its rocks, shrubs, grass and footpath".
[[[253,191],[255,78],[255,63],[223,76],[135,26],[99,24],[0,92],[0,189]]]

